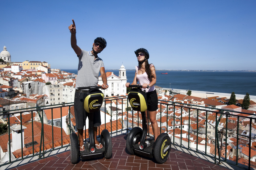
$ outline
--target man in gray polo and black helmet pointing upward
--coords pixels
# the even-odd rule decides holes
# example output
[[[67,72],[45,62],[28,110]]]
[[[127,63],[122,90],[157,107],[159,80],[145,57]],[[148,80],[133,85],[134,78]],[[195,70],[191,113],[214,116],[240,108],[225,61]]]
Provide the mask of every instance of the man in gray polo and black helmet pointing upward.
[[[88,87],[88,86],[97,86],[99,81],[99,72],[103,84],[101,89],[105,90],[108,88],[107,77],[105,73],[104,63],[101,58],[98,57],[98,54],[106,47],[107,42],[104,38],[98,37],[94,40],[92,44],[92,51],[84,51],[77,46],[76,40],[76,25],[72,19],[73,24],[68,28],[71,33],[71,47],[74,52],[77,54],[79,63],[78,63],[78,72],[76,79],[76,91],[74,99],[74,112],[76,117],[76,126],[78,131],[79,147],[80,151],[84,151],[84,139],[83,139],[83,128],[86,122],[88,113],[84,110],[83,99],[86,95],[87,90],[78,90],[78,87]],[[101,125],[100,111],[93,114],[93,130],[94,130],[94,139],[95,147],[98,149],[102,148],[103,145],[97,141],[97,129]]]

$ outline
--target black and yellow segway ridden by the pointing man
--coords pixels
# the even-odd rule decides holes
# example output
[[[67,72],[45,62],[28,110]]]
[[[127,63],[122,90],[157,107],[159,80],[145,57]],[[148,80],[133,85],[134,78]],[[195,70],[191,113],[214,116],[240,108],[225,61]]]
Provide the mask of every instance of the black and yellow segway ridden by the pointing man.
[[[81,159],[91,159],[102,156],[104,156],[106,159],[109,159],[112,156],[112,141],[110,133],[107,129],[102,130],[100,135],[100,143],[103,145],[103,148],[98,149],[95,147],[93,135],[93,113],[100,110],[104,100],[104,94],[99,90],[99,88],[101,88],[101,86],[78,88],[79,90],[89,89],[84,98],[84,109],[87,113],[89,113],[89,142],[88,140],[84,142],[85,150],[80,151],[77,134],[74,132],[70,134],[70,155],[72,164],[76,164],[78,162],[79,155]]]

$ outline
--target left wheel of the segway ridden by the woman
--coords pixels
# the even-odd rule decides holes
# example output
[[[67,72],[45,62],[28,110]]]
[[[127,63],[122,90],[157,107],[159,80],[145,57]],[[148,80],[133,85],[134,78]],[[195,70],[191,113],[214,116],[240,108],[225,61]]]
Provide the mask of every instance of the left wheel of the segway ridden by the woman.
[[[132,128],[126,139],[126,149],[130,154],[134,154],[133,146],[141,141],[142,129],[139,127]]]

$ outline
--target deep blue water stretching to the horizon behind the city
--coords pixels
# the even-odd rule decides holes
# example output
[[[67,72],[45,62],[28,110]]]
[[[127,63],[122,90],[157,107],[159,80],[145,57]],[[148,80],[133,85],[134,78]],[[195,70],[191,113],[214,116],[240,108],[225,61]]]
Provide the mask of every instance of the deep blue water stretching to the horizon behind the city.
[[[77,74],[77,69],[61,69]],[[119,70],[105,70],[119,75]],[[161,73],[168,74],[161,74]],[[126,70],[132,83],[135,70]],[[156,71],[156,86],[170,89],[256,95],[256,72],[249,71]]]

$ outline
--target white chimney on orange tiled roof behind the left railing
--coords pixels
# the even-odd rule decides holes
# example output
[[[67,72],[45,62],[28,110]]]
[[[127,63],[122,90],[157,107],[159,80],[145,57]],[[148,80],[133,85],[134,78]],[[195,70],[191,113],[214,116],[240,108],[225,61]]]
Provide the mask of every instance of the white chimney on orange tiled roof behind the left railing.
[[[24,148],[24,129],[27,127],[22,126],[22,132],[21,132],[21,126],[19,124],[15,124],[10,127],[12,130],[12,143],[11,143],[11,152],[16,151],[17,149]],[[22,135],[22,146],[21,146],[21,136]]]

